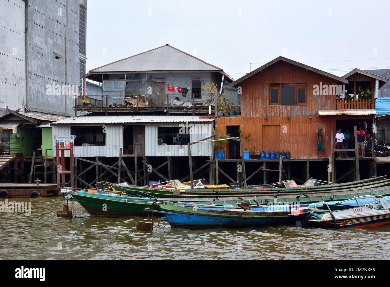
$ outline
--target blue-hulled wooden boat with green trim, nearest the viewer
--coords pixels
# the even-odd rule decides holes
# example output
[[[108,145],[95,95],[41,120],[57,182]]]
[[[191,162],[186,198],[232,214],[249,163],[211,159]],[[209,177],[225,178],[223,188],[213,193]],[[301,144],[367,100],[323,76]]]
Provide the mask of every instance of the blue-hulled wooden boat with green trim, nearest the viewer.
[[[308,205],[298,204],[285,208],[278,206],[240,208],[193,208],[160,203],[161,210],[145,209],[147,212],[163,214],[171,226],[187,227],[241,227],[292,224],[307,216]]]

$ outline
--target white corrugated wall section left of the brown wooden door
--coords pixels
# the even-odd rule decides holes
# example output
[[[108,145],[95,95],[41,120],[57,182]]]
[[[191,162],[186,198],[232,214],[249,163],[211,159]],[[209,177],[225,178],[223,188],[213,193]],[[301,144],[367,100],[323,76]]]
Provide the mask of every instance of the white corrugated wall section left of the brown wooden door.
[[[105,146],[75,146],[75,157],[119,157],[119,148],[122,148],[122,125],[107,125]],[[53,125],[53,135],[70,135],[71,127]],[[54,156],[56,156],[54,154]],[[69,152],[65,153],[69,157]]]

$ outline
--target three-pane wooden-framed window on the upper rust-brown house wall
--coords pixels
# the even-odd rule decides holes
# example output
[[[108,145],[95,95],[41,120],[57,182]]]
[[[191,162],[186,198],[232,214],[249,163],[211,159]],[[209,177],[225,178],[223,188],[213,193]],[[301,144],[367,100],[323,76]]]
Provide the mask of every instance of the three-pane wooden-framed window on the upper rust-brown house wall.
[[[307,83],[269,84],[270,105],[305,105],[307,103]]]

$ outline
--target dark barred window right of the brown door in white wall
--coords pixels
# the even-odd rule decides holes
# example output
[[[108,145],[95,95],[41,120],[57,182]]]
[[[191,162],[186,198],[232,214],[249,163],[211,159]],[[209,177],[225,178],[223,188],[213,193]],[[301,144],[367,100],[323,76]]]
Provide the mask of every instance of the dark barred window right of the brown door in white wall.
[[[157,144],[168,146],[183,146],[190,142],[190,134],[186,128],[157,127]]]

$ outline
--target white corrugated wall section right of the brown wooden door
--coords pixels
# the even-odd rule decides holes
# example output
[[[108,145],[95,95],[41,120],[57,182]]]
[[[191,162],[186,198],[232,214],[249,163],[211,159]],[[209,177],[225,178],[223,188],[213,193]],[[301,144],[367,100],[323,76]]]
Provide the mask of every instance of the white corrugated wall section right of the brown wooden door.
[[[179,127],[179,124],[146,125],[145,126],[145,156],[147,157],[177,157],[188,156],[187,146],[168,146],[157,144],[158,127]],[[190,141],[197,141],[209,137],[213,133],[212,123],[197,123],[197,130],[190,134]],[[212,143],[198,143],[191,146],[191,155],[210,156]]]

